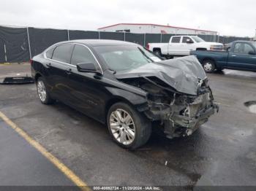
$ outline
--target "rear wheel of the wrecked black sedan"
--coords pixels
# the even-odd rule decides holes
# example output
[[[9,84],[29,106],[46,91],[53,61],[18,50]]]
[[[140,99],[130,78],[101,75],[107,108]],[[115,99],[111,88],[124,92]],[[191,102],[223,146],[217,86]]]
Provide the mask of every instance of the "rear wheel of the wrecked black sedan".
[[[53,104],[53,102],[55,101],[53,98],[50,97],[50,93],[46,87],[45,79],[43,77],[39,77],[37,79],[37,95],[42,104]]]

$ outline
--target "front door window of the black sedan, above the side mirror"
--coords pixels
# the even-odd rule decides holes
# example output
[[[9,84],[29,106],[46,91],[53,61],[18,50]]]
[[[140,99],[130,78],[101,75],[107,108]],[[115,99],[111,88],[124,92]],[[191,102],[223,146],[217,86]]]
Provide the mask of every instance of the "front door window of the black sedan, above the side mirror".
[[[94,63],[95,65],[97,62],[87,47],[75,44],[75,48],[72,52],[71,64],[77,65],[78,63]]]

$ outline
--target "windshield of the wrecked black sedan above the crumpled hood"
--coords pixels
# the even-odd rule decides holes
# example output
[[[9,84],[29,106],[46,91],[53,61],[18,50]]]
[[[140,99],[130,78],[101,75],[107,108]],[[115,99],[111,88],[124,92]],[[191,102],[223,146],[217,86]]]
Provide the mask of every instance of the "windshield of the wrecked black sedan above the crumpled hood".
[[[140,46],[100,46],[94,49],[114,71],[137,69],[147,63],[161,61],[152,52]]]

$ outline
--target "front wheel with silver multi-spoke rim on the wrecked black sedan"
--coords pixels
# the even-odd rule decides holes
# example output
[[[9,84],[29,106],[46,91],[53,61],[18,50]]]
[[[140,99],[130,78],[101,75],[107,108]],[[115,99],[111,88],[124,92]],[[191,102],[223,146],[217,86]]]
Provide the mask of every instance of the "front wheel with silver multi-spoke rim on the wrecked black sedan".
[[[113,140],[124,149],[137,149],[151,136],[151,122],[129,104],[113,104],[107,116],[108,130]]]

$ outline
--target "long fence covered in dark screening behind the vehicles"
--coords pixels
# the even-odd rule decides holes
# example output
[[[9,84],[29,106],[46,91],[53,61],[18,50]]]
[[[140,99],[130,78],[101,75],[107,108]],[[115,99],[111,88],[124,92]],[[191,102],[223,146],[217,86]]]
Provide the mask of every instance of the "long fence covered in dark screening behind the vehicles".
[[[181,34],[179,34],[181,35]],[[188,35],[188,34],[184,34]],[[142,46],[150,42],[169,42],[175,34],[132,34],[122,32],[59,30],[49,28],[16,28],[0,26],[0,63],[29,61],[56,42],[73,39],[115,39],[134,42]],[[199,35],[206,42],[222,42],[224,44],[238,39],[249,38]]]

